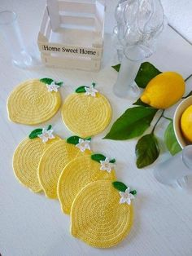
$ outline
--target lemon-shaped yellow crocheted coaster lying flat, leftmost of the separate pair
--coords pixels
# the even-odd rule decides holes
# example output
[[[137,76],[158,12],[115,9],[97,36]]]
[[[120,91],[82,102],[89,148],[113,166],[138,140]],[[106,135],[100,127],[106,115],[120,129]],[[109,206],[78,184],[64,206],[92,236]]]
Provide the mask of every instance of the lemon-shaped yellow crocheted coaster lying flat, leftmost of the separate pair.
[[[49,120],[60,107],[58,88],[61,85],[62,82],[54,82],[50,78],[22,82],[7,101],[10,120],[25,125],[37,125]]]

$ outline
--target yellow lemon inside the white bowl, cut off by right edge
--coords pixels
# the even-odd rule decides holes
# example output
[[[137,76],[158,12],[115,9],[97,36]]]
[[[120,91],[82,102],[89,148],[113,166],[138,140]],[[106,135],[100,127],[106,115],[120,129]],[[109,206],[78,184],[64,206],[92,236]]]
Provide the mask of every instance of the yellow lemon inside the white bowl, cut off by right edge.
[[[185,139],[192,143],[192,105],[186,108],[181,116],[181,130]]]

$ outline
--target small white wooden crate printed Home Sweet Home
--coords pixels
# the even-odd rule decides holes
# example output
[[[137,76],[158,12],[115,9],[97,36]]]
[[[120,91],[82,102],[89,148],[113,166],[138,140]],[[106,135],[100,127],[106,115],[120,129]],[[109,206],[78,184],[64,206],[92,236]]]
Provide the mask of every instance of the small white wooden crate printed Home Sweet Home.
[[[98,71],[103,55],[102,2],[47,0],[38,47],[49,66]]]

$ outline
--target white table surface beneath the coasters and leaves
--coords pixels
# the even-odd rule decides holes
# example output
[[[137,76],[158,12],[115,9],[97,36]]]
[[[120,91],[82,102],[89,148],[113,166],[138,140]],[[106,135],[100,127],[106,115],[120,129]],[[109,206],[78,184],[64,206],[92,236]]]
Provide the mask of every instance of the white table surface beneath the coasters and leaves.
[[[28,45],[37,38],[38,27],[45,1],[1,0],[0,10],[15,10]],[[14,43],[14,42],[13,42]],[[112,86],[117,73],[111,66],[109,38],[105,42],[104,67],[99,73],[87,73],[60,68],[14,68],[7,49],[0,39],[0,254],[2,256],[169,256],[192,255],[192,188],[177,191],[158,183],[153,175],[154,165],[138,170],[135,165],[136,139],[127,141],[103,140],[113,121],[133,103],[130,99],[116,98]],[[111,53],[114,51],[111,51]],[[177,33],[168,28],[162,36],[158,51],[150,61],[162,71],[174,70],[183,77],[192,73],[192,48]],[[135,220],[129,236],[111,249],[95,249],[73,238],[69,232],[70,219],[62,214],[59,202],[30,192],[15,179],[11,167],[13,152],[24,137],[33,130],[8,121],[7,97],[20,82],[33,77],[53,77],[63,80],[63,99],[81,84],[97,82],[98,90],[107,95],[113,109],[110,126],[94,137],[92,148],[117,161],[118,179],[137,189]],[[191,90],[192,79],[187,82]],[[172,117],[173,107],[167,112]],[[55,132],[66,138],[71,133],[65,128],[58,113],[45,125],[52,123]],[[168,121],[161,120],[157,135],[162,151],[159,161],[170,154],[164,143],[164,129]]]

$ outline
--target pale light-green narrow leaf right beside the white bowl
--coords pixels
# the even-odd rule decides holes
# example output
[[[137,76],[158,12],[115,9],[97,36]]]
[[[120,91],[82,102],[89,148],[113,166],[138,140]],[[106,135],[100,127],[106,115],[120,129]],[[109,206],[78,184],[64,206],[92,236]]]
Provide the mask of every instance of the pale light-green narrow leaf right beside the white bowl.
[[[172,156],[177,154],[177,152],[181,151],[181,147],[177,142],[176,135],[173,129],[173,121],[170,121],[167,129],[164,132],[164,142]]]

